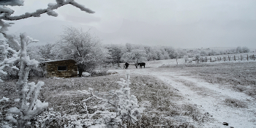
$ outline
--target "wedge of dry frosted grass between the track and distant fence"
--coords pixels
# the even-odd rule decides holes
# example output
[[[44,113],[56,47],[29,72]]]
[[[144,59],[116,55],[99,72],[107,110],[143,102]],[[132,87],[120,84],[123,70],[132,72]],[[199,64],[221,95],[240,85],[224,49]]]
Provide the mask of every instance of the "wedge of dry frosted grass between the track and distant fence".
[[[256,62],[224,62],[162,65],[162,68],[178,69],[179,72],[189,72],[208,83],[219,83],[222,86],[232,86],[236,91],[244,92],[256,98]]]

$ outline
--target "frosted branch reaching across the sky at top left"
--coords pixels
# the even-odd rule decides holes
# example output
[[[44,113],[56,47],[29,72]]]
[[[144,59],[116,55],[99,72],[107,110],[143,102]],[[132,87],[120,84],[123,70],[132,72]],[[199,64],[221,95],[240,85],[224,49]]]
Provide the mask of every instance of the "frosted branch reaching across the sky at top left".
[[[47,9],[40,9],[40,10],[37,10],[36,12],[26,12],[25,14],[18,15],[18,16],[4,15],[4,16],[0,16],[0,18],[3,20],[20,20],[20,19],[30,18],[30,17],[40,17],[40,15],[43,13],[47,13],[48,15],[51,15],[51,16],[58,16],[58,14],[56,12],[54,12],[53,10],[56,10],[59,7],[64,6],[66,4],[72,4],[73,6],[78,7],[80,10],[88,12],[88,13],[94,13],[94,11],[90,10],[89,8],[84,7],[81,4],[78,4],[74,0],[66,0],[66,1],[56,0],[56,2],[57,2],[56,4],[48,4]],[[1,9],[1,7],[0,7],[0,9]]]

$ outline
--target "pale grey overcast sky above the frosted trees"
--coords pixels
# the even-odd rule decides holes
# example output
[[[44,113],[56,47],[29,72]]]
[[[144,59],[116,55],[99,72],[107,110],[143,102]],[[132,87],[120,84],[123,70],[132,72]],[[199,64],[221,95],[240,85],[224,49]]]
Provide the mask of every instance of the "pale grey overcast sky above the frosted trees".
[[[57,18],[44,14],[41,18],[18,20],[10,32],[15,33],[23,26],[39,25],[48,20],[63,20],[74,25],[93,27],[103,44],[129,42],[174,48],[256,48],[255,0],[76,1],[95,13],[81,12],[67,5],[56,10],[59,13]],[[25,0],[23,7],[10,8],[15,10],[14,15],[20,15],[46,8],[48,3],[55,1]],[[30,29],[33,30],[33,27]],[[51,26],[50,29],[61,27]],[[35,29],[34,33],[39,31]]]

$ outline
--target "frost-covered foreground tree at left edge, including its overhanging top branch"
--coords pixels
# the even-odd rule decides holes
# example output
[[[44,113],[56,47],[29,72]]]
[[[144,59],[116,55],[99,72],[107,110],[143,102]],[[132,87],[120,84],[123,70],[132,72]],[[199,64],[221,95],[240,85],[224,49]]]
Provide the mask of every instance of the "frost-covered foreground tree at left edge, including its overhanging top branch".
[[[1,61],[0,61],[0,76],[7,75],[12,69],[18,69],[18,82],[16,83],[16,89],[19,94],[18,108],[13,107],[7,110],[6,119],[10,121],[10,124],[4,124],[0,127],[10,127],[10,125],[15,125],[17,127],[26,127],[29,124],[31,118],[34,118],[37,114],[42,112],[48,107],[47,102],[41,102],[37,99],[39,94],[39,89],[45,83],[39,81],[37,84],[32,82],[28,83],[29,70],[37,67],[38,61],[31,60],[27,56],[26,46],[29,42],[34,42],[34,39],[26,36],[26,34],[20,34],[20,43],[15,39],[12,34],[7,34],[7,27],[10,27],[13,23],[4,22],[4,20],[20,20],[30,17],[40,17],[41,14],[47,13],[48,15],[57,16],[58,14],[53,10],[58,9],[66,4],[72,4],[75,7],[80,8],[80,10],[93,13],[93,11],[78,4],[74,0],[56,0],[56,4],[48,4],[47,9],[39,9],[35,12],[26,12],[23,15],[12,16],[14,13],[9,6],[23,6],[23,1],[20,0],[1,0],[0,1],[0,48],[1,48]],[[17,48],[11,48],[10,45]],[[19,62],[19,68],[15,67],[13,64]],[[2,80],[0,79],[0,82]],[[14,118],[15,117],[15,118]]]

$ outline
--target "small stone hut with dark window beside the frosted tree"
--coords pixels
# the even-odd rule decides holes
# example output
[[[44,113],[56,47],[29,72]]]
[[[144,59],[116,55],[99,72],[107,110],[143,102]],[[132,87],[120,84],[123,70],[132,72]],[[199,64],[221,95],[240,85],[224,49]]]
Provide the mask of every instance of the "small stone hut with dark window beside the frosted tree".
[[[74,78],[78,76],[78,65],[73,59],[43,61],[40,65],[44,67],[46,78]]]

